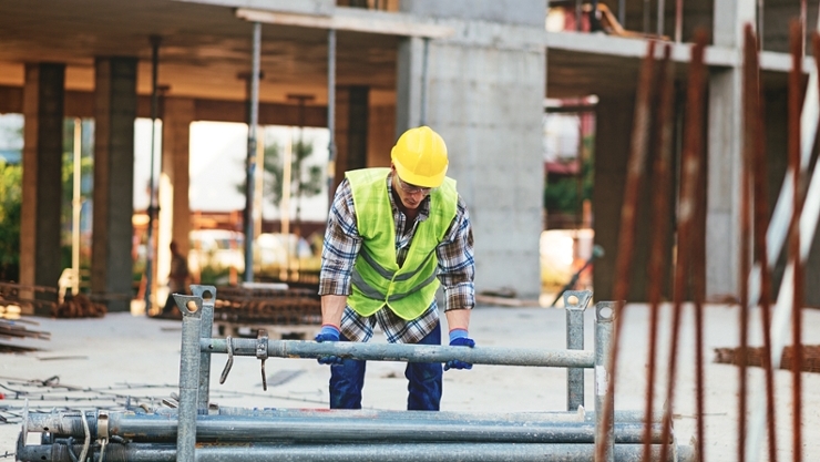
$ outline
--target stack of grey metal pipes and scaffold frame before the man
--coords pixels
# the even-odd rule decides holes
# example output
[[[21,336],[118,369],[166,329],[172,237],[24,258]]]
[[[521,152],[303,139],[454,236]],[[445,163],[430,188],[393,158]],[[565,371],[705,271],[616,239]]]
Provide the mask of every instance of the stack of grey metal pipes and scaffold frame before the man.
[[[298,340],[214,339],[211,326],[216,288],[193,286],[194,296],[175,299],[183,314],[180,408],[154,412],[75,411],[23,418],[17,460],[24,462],[103,461],[592,461],[598,434],[607,432],[614,460],[643,460],[644,432],[649,427],[653,460],[673,445],[668,461],[694,461],[690,446],[674,435],[663,441],[662,415],[645,422],[643,412],[617,411],[608,429],[601,415],[585,412],[583,381],[567,377],[568,411],[463,413],[370,410],[295,410],[217,408],[208,402],[209,356],[227,353],[226,377],[235,356],[318,358],[340,356],[361,360],[595,368],[595,389],[606,390],[609,351],[609,305],[596,307],[594,351],[510,348],[454,348]],[[205,298],[203,298],[205,296]],[[590,296],[576,299],[586,305]],[[584,307],[573,306],[583,311]],[[583,336],[582,317],[567,317],[567,332]],[[582,343],[583,345],[583,343]],[[572,348],[578,348],[572,343]],[[583,348],[583,346],[581,347]],[[581,386],[581,390],[578,390]],[[596,405],[601,397],[596,393]],[[573,401],[570,403],[568,401]],[[41,444],[25,444],[28,432],[41,433]],[[608,456],[609,456],[608,455]]]

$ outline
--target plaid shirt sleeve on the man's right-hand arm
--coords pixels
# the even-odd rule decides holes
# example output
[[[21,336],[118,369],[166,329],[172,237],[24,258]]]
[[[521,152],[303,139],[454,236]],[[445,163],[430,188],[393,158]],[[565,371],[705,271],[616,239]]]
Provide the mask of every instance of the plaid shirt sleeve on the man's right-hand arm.
[[[444,311],[472,309],[475,306],[473,232],[470,214],[461,196],[450,229],[435,251],[439,257],[439,280],[444,286]]]

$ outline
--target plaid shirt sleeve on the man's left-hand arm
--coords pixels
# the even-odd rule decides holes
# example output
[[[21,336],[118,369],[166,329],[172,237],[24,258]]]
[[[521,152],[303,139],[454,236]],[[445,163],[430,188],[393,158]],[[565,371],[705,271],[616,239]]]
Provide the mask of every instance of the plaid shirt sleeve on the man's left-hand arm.
[[[350,276],[361,248],[353,195],[345,179],[334,195],[321,249],[319,295],[350,295]]]

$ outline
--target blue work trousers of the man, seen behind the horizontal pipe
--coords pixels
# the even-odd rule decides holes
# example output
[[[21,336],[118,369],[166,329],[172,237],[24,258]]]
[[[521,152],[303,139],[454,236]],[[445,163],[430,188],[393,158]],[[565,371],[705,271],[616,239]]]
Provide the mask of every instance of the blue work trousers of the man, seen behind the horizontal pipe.
[[[441,345],[441,325],[435,326],[419,345]],[[349,341],[344,335],[339,341]],[[367,361],[344,359],[330,366],[330,409],[361,409],[361,389],[365,387]],[[439,362],[408,362],[407,377],[409,411],[438,411],[441,402],[442,369]]]

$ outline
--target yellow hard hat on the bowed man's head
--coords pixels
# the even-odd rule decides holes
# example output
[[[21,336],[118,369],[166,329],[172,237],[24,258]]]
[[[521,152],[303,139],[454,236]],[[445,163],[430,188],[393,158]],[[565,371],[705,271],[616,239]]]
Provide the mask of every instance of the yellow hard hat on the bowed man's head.
[[[447,145],[429,126],[419,126],[402,133],[390,156],[399,178],[406,183],[439,187],[444,182]]]

